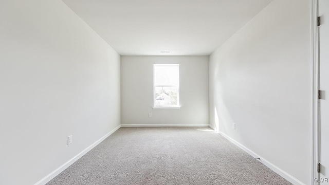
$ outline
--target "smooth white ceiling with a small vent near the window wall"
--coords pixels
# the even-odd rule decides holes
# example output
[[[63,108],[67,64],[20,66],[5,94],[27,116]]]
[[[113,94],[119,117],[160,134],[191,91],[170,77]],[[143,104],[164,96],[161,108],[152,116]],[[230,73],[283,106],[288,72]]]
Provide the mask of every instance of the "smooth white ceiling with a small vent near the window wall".
[[[272,0],[62,1],[121,55],[209,55]]]

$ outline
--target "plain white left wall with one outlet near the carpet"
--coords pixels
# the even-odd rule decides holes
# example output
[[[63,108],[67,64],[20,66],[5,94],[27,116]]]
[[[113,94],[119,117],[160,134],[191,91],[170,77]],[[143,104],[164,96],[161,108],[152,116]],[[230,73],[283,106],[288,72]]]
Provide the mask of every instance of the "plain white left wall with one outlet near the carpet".
[[[0,184],[34,184],[120,124],[120,55],[60,0],[0,22]]]

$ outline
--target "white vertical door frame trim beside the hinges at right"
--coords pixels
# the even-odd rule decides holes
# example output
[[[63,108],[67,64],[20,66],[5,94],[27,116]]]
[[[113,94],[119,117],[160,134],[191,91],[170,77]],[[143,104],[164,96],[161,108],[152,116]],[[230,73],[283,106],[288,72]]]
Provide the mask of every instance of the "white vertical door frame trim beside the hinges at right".
[[[317,26],[318,0],[310,1],[311,16],[311,42],[312,42],[312,182],[318,184],[314,178],[319,178],[317,164],[320,161],[320,103],[318,99],[319,90],[319,30]]]

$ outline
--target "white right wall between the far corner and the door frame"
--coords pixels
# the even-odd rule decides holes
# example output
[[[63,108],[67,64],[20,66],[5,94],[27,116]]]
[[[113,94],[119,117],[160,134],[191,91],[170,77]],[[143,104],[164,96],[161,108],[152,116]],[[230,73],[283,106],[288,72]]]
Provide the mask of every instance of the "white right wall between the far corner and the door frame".
[[[312,169],[309,5],[273,1],[209,64],[210,124],[305,184]]]

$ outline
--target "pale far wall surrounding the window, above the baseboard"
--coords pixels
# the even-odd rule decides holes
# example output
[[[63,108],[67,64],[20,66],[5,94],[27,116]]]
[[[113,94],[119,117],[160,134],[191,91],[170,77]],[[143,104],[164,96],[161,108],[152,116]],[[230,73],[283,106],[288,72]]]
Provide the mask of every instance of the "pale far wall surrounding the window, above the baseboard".
[[[180,109],[153,109],[153,64],[179,64]],[[209,57],[121,57],[121,124],[209,123]],[[149,118],[152,113],[152,118]]]

